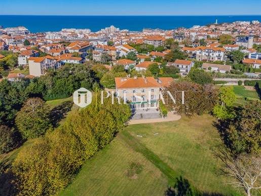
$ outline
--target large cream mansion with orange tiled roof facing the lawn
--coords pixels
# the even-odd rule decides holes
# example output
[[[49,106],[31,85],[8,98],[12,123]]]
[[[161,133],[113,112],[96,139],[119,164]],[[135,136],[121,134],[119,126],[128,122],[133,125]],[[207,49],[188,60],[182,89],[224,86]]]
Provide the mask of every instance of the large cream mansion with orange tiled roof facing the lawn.
[[[132,109],[157,108],[160,84],[154,77],[115,78],[118,95],[129,102]]]

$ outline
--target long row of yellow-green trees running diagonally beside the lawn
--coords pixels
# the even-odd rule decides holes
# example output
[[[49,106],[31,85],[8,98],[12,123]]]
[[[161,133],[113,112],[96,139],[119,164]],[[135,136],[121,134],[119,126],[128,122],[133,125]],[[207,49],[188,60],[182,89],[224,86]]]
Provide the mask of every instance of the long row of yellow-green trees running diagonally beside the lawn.
[[[86,159],[113,140],[129,119],[130,108],[117,99],[112,105],[111,97],[98,103],[73,113],[63,126],[21,150],[12,166],[20,195],[57,194]]]

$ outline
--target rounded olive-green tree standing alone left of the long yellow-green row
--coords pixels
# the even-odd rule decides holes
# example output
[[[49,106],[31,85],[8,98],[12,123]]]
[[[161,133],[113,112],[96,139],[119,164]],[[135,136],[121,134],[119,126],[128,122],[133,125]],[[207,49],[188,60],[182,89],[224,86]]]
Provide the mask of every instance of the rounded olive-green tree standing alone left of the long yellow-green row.
[[[49,106],[39,97],[29,98],[16,115],[16,125],[24,139],[37,138],[50,128]]]

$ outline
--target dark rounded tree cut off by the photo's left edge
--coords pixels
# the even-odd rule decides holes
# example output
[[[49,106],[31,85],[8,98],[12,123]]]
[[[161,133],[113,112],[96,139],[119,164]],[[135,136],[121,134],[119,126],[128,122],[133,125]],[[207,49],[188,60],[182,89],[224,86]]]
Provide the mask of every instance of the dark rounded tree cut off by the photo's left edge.
[[[5,125],[0,125],[0,154],[7,153],[14,146],[13,130]]]

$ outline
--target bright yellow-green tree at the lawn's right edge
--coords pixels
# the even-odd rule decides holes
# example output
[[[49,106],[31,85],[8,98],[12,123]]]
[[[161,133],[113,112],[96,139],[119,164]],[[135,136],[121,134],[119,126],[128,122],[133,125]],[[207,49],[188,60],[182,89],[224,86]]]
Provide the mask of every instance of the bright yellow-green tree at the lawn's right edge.
[[[221,87],[218,94],[218,101],[212,111],[213,115],[219,119],[232,118],[235,115],[233,104],[236,100],[233,86]]]

